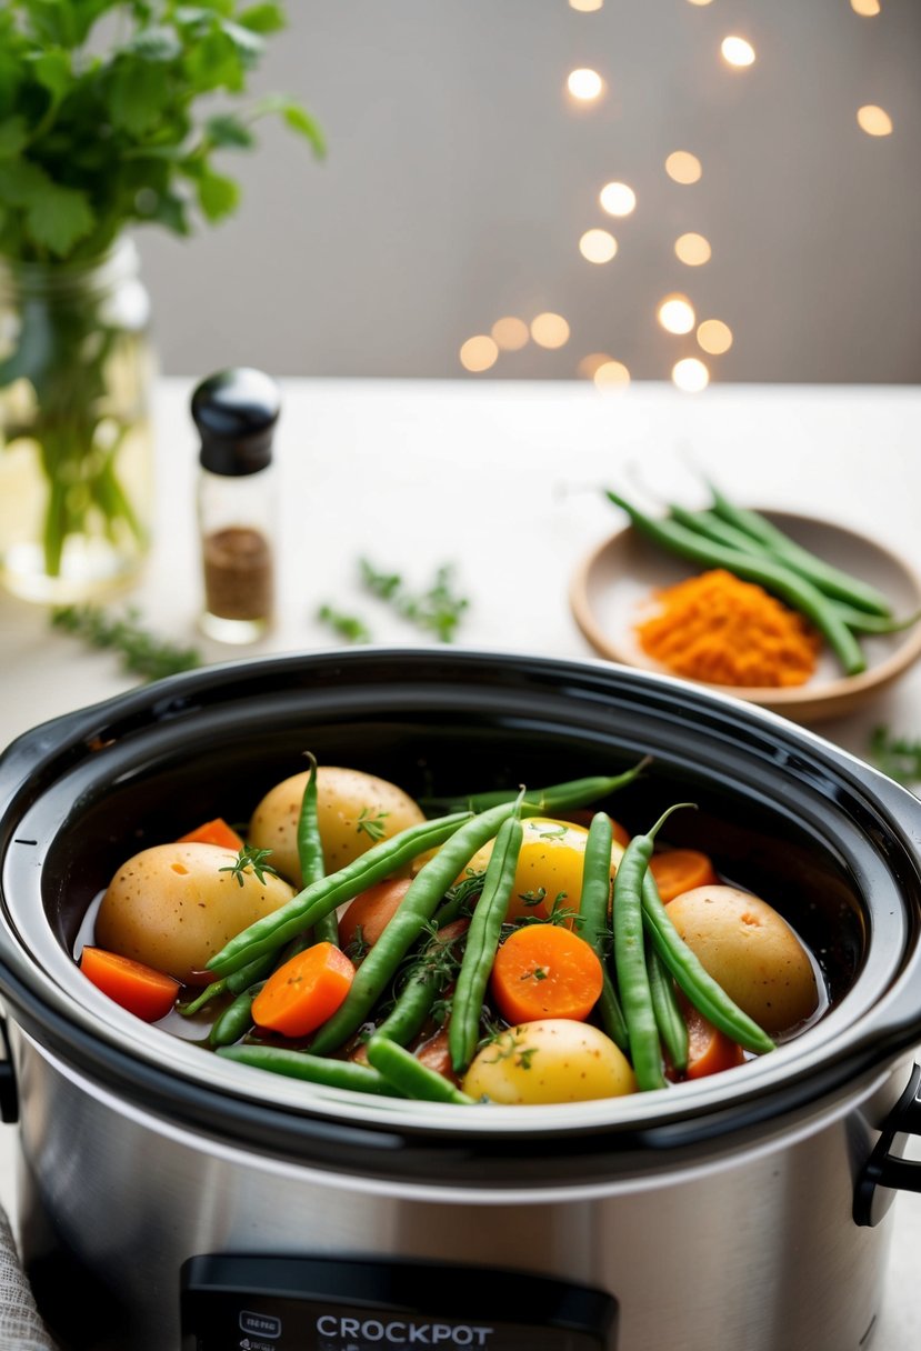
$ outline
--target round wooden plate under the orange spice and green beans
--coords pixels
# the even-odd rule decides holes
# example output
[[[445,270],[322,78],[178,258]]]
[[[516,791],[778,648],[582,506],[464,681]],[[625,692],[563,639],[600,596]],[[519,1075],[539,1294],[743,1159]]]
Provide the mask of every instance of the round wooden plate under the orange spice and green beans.
[[[882,590],[891,600],[895,615],[907,616],[921,609],[921,577],[875,540],[812,516],[779,511],[764,511],[763,515],[805,549]],[[702,570],[663,553],[627,526],[594,549],[577,569],[570,586],[573,615],[602,657],[663,671],[666,667],[639,646],[635,624],[648,609],[655,590]],[[843,676],[833,654],[824,650],[805,685],[786,689],[708,688],[771,708],[797,721],[841,717],[898,680],[921,657],[921,621],[898,634],[864,635],[860,644],[867,655],[867,670],[859,676]]]

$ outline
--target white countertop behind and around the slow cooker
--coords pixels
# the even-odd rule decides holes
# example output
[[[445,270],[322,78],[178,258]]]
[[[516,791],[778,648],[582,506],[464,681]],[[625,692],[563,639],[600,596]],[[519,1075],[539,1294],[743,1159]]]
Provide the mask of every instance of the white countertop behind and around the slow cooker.
[[[282,381],[278,621],[251,648],[196,631],[201,605],[192,380],[158,385],[157,539],[128,596],[151,630],[197,644],[207,661],[332,647],[316,617],[330,601],[361,613],[375,642],[424,635],[358,585],[357,559],[427,585],[442,563],[471,600],[466,647],[594,659],[569,609],[577,563],[620,528],[604,485],[631,466],[675,496],[689,461],[731,496],[814,512],[875,535],[921,571],[921,388],[668,385],[600,393],[589,384]],[[628,496],[631,493],[628,492]],[[34,724],[128,689],[117,659],[49,627],[45,612],[0,597],[0,747]],[[921,735],[921,666],[871,708],[820,731],[860,757],[871,730]],[[12,1204],[14,1132],[0,1132],[0,1201]],[[921,1197],[895,1208],[893,1259],[874,1351],[921,1344],[913,1305]]]

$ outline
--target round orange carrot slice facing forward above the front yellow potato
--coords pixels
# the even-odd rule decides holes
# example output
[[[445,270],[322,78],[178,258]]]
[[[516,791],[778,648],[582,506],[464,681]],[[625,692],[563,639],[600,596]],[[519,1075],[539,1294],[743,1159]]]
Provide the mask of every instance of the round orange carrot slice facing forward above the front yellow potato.
[[[512,1024],[544,1017],[583,1021],[602,984],[591,946],[558,924],[524,924],[509,934],[490,977],[496,1006]]]

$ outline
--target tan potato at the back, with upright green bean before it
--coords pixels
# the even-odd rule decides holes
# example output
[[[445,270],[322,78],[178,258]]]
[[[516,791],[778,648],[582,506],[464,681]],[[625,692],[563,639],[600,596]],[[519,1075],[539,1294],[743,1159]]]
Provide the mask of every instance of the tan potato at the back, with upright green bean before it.
[[[269,789],[253,813],[247,835],[255,848],[271,850],[271,866],[297,888],[297,821],[308,774],[292,774]],[[336,873],[378,840],[425,820],[421,808],[396,784],[335,765],[320,765],[316,771],[316,813],[327,873]]]

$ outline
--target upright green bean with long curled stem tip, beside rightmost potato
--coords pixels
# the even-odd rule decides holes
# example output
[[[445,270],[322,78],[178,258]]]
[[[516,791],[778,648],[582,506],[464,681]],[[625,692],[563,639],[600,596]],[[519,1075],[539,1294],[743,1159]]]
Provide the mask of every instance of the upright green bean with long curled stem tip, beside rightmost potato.
[[[614,962],[627,1020],[631,1059],[641,1090],[664,1088],[662,1046],[652,1006],[643,936],[643,880],[647,875],[655,836],[678,802],[659,817],[646,835],[635,835],[614,874]]]

